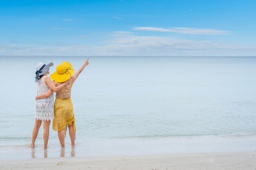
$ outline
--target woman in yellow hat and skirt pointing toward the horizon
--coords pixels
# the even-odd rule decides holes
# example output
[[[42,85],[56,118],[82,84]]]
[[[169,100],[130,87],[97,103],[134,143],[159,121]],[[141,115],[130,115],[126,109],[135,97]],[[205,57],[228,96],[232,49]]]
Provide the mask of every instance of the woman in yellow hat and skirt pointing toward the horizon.
[[[86,65],[88,65],[88,59],[83,63],[81,68],[75,72],[72,65],[64,61],[57,66],[56,72],[51,75],[51,78],[54,80],[54,84],[61,85],[63,82],[67,81],[70,78],[70,83],[67,83],[61,90],[56,92],[56,99],[54,102],[54,120],[52,123],[52,129],[58,131],[58,138],[61,143],[61,147],[65,147],[65,136],[67,133],[67,127],[69,129],[69,135],[71,140],[71,145],[75,145],[76,137],[76,125],[75,125],[75,116],[74,109],[71,100],[71,89],[76,81],[76,78],[83,71]],[[47,93],[36,96],[37,98],[45,98],[49,96],[50,93],[53,93],[51,90],[48,90]]]

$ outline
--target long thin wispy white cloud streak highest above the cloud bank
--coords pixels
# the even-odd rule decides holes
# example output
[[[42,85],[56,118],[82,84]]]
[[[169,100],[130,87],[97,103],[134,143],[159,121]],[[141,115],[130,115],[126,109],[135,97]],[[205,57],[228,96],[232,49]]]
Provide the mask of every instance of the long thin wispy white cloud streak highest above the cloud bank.
[[[133,30],[172,32],[172,33],[180,33],[180,34],[230,35],[229,31],[222,31],[222,30],[216,30],[216,29],[204,29],[204,28],[186,28],[186,27],[173,27],[170,29],[157,28],[157,27],[134,27]]]

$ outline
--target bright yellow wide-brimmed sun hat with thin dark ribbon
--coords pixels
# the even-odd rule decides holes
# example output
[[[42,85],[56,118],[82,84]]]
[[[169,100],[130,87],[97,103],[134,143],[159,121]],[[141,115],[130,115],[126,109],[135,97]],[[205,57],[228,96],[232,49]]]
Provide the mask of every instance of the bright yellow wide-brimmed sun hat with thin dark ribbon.
[[[73,74],[75,70],[73,66],[67,62],[64,61],[63,63],[57,65],[56,72],[51,74],[51,78],[59,83],[62,83],[64,81],[67,81]]]

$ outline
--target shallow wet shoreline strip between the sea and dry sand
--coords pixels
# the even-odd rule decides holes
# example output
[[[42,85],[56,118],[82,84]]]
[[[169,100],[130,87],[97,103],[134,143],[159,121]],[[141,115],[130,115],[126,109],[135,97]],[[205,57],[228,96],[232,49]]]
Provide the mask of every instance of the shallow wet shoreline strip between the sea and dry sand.
[[[156,139],[78,139],[72,147],[66,142],[61,148],[58,139],[51,140],[48,149],[42,141],[35,148],[29,142],[0,146],[0,160],[58,157],[109,157],[118,155],[161,155],[189,153],[252,152],[255,151],[256,136],[201,136],[171,137]]]

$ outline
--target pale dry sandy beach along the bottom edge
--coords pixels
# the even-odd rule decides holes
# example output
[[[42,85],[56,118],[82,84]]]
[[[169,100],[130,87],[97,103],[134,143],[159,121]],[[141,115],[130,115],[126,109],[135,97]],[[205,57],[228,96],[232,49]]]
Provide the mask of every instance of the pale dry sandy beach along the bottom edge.
[[[0,169],[256,170],[254,152],[178,153],[113,157],[59,157],[0,161]]]

